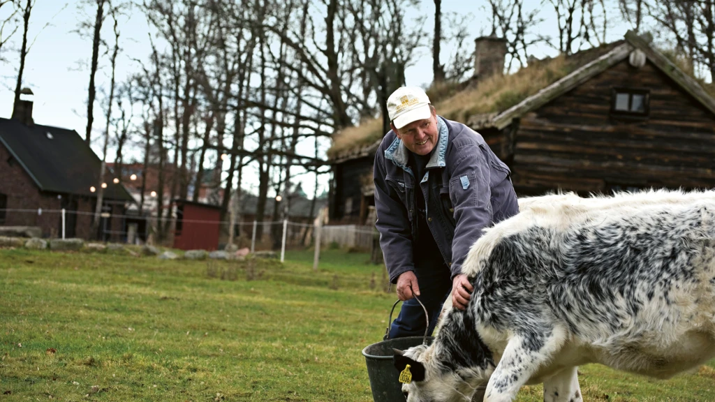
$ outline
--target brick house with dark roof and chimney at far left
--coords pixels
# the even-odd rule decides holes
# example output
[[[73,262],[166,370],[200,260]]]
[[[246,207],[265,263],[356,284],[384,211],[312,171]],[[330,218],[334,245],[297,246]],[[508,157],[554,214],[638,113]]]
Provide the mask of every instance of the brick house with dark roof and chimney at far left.
[[[94,237],[101,163],[76,131],[34,124],[32,102],[20,100],[11,119],[0,118],[0,225],[36,226],[43,237],[61,237],[64,208],[65,237]],[[132,196],[112,182],[111,173],[106,183],[100,237],[123,240]]]

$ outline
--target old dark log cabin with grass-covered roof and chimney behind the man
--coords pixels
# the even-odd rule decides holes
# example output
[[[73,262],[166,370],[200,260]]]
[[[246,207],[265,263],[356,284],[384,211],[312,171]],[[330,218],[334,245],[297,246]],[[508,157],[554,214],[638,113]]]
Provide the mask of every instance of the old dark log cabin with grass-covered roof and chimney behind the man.
[[[623,40],[532,60],[508,75],[495,68],[503,69],[505,49],[503,40],[476,39],[475,79],[430,98],[438,114],[482,134],[511,167],[518,195],[715,185],[713,84],[687,74],[648,34],[628,31]],[[373,219],[381,130],[375,119],[335,134],[331,222]]]

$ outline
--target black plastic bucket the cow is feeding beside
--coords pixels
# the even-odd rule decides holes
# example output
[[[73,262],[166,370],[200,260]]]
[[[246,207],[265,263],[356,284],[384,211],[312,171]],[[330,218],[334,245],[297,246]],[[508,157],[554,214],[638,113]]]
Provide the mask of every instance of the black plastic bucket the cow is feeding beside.
[[[435,338],[426,338],[429,345]],[[373,389],[373,400],[375,402],[395,402],[404,401],[402,384],[398,381],[400,372],[393,366],[393,348],[405,350],[413,346],[421,345],[425,340],[422,336],[410,336],[408,338],[395,338],[373,343],[363,349],[365,363],[368,364],[368,376],[370,376],[370,388]]]

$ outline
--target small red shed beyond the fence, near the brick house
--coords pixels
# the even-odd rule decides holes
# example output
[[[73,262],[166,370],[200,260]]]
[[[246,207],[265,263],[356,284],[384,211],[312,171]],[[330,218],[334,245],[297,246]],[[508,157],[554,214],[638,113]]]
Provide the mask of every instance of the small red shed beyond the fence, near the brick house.
[[[216,250],[219,247],[221,207],[189,200],[174,202],[177,205],[174,248]]]

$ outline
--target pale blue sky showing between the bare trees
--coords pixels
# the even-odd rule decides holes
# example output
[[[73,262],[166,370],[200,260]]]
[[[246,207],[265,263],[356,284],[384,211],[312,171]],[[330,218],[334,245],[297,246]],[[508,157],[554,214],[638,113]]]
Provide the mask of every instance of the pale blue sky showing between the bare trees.
[[[29,41],[34,41],[29,54],[26,57],[26,67],[24,72],[23,87],[29,87],[34,92],[34,120],[39,124],[46,124],[56,127],[65,127],[76,130],[84,137],[87,126],[87,87],[89,86],[89,60],[92,57],[92,39],[83,37],[77,33],[79,21],[86,21],[91,18],[93,10],[79,9],[79,1],[60,0],[36,0],[36,6],[32,11],[31,25],[29,28]],[[463,1],[463,0],[443,0],[443,15],[459,13],[470,16],[470,52],[473,50],[473,39],[488,34],[489,23],[488,13],[485,10],[483,1]],[[538,6],[541,1],[534,0],[532,6]],[[7,8],[7,7],[4,7]],[[616,11],[611,11],[615,16]],[[428,16],[425,21],[425,31],[430,32],[433,27],[433,1],[423,0],[420,9],[410,11],[411,15],[420,13]],[[545,15],[548,16],[548,15]],[[46,24],[49,24],[46,26]],[[444,23],[443,23],[444,25]],[[540,34],[558,36],[555,21],[545,21],[541,24]],[[618,24],[608,29],[608,41],[617,40],[623,37],[628,26]],[[112,35],[111,23],[104,26],[104,37]],[[144,14],[138,9],[129,16],[124,16],[120,20],[120,44],[122,53],[119,55],[117,65],[117,82],[121,82],[127,75],[138,69],[137,62],[133,58],[148,58],[150,47],[148,41],[149,25]],[[5,62],[0,62],[0,117],[9,118],[12,113],[13,92],[16,82],[17,69],[19,67],[19,40],[21,31],[16,34],[14,43],[6,46],[0,56]],[[111,39],[110,39],[111,41]],[[446,62],[453,49],[444,46],[442,49],[442,62]],[[556,51],[548,46],[539,46],[533,49],[536,57],[553,56]],[[99,138],[104,130],[104,117],[102,105],[105,95],[104,87],[109,84],[109,57],[103,57],[97,72],[97,94],[98,102],[94,106],[94,134],[93,138]],[[426,87],[432,81],[432,57],[430,49],[425,47],[420,49],[419,57],[415,65],[406,72],[408,85],[419,85]],[[99,142],[92,144],[98,155],[101,153]],[[312,152],[310,152],[312,153]],[[101,155],[100,155],[101,157]],[[108,160],[113,160],[114,152],[108,152]],[[255,177],[254,175],[248,175]],[[304,189],[308,194],[312,193],[313,178],[304,177]],[[323,186],[327,182],[327,177],[322,180]],[[255,183],[251,183],[253,187]]]

